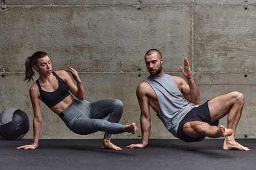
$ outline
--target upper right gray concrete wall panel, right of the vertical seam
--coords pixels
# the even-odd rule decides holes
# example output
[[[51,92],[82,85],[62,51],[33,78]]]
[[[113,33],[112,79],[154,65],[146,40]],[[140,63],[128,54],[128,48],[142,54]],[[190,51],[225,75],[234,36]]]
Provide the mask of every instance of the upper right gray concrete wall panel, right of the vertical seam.
[[[256,7],[195,7],[195,68],[203,73],[255,73]]]

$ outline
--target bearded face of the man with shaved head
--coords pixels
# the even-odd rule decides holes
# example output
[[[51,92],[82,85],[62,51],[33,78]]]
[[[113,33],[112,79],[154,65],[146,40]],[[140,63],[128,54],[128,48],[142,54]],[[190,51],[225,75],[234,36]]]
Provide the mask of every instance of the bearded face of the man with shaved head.
[[[154,52],[152,55],[146,55],[145,62],[150,75],[156,76],[162,72],[163,58],[157,52]]]

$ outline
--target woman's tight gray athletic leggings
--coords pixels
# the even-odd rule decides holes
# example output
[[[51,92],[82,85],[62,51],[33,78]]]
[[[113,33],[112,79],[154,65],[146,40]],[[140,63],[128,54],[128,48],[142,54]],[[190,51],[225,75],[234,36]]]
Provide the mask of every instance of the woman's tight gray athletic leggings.
[[[123,103],[117,99],[103,99],[96,102],[74,101],[62,112],[62,120],[76,134],[88,135],[105,132],[104,138],[125,132],[119,124]],[[103,120],[108,117],[108,120]]]

